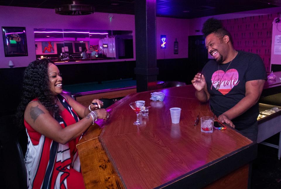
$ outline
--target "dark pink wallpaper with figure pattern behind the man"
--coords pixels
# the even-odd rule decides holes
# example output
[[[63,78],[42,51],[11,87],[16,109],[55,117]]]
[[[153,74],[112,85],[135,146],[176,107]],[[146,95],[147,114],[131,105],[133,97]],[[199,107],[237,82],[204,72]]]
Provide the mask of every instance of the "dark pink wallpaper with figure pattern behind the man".
[[[225,29],[233,38],[234,48],[260,55],[267,72],[270,71],[272,22],[274,18],[280,17],[280,14],[222,20]]]

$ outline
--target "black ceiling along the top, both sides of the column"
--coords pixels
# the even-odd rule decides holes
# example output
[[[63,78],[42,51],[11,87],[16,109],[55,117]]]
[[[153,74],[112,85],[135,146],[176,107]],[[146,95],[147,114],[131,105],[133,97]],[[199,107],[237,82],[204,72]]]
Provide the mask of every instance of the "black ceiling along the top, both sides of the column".
[[[81,0],[95,7],[95,12],[134,14],[137,0]],[[64,0],[0,0],[0,5],[52,8],[71,1]],[[199,18],[218,14],[250,11],[281,6],[281,0],[156,0],[156,15],[171,18]]]

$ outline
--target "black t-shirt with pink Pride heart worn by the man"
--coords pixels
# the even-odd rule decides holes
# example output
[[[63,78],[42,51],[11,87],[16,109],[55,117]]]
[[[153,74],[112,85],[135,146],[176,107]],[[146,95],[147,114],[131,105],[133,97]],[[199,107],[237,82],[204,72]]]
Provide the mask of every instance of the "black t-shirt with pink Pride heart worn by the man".
[[[212,59],[202,70],[210,93],[210,105],[216,116],[226,112],[245,97],[247,81],[267,79],[263,61],[256,54],[238,51],[237,56],[229,64],[230,62],[218,64]],[[216,90],[218,82],[220,88]],[[257,121],[258,114],[256,103],[232,122],[238,130],[245,129]]]

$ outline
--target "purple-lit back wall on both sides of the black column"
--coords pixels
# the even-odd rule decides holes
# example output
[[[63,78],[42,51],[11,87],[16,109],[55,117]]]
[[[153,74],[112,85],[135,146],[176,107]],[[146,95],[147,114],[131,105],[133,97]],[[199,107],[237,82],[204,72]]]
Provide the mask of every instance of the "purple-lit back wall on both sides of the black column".
[[[43,14],[44,13],[44,14]],[[35,16],[45,15],[45,16]],[[157,17],[157,36],[160,33],[167,35],[169,47],[160,49],[157,46],[157,59],[164,58],[187,58],[187,36],[188,23],[186,19],[158,18]],[[134,15],[114,14],[112,22],[109,21],[108,13],[94,13],[85,16],[62,16],[54,13],[53,9],[44,8],[27,8],[0,6],[0,26],[19,26],[26,27],[28,56],[27,57],[5,57],[3,38],[0,38],[0,68],[7,68],[9,60],[12,60],[15,67],[25,67],[29,62],[35,60],[35,42],[34,28],[49,29],[92,29],[92,30],[132,30],[133,44],[135,46],[135,19]],[[184,31],[184,33],[183,33]],[[179,54],[173,54],[173,42],[177,38],[179,41]],[[165,57],[164,57],[165,53]],[[135,48],[134,48],[134,57]],[[123,61],[125,59],[122,59]],[[135,59],[129,59],[135,60]],[[120,61],[120,60],[103,60],[101,62]],[[87,63],[91,61],[83,61]],[[98,61],[95,61],[98,62]],[[65,64],[75,64],[68,62]]]

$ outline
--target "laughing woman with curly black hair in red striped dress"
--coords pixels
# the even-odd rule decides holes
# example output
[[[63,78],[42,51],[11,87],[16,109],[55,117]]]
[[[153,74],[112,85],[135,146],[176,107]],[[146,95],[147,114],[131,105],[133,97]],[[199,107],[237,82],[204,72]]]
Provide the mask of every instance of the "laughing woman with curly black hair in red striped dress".
[[[99,109],[101,101],[92,103],[86,108],[62,93],[62,77],[52,61],[28,65],[17,112],[28,135],[28,188],[84,188],[76,144],[94,121],[109,117]]]

